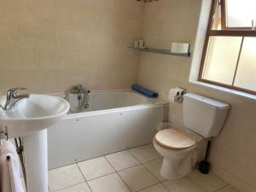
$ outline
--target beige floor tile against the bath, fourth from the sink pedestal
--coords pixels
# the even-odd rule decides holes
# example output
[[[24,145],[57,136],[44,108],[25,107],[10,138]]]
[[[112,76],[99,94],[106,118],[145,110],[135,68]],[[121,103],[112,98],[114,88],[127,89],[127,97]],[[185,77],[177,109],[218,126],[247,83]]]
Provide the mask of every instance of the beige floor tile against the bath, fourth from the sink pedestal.
[[[129,151],[142,163],[146,163],[150,160],[157,160],[161,157],[152,145],[131,148]]]

